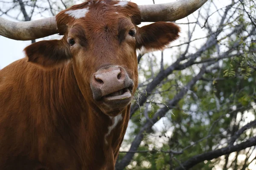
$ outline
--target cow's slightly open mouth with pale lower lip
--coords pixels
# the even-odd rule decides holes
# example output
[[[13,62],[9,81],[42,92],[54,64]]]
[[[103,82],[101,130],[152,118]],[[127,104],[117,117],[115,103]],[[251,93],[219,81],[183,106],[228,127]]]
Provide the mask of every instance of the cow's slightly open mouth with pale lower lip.
[[[125,100],[129,98],[131,98],[131,93],[128,88],[123,88],[119,91],[115,91],[111,94],[108,94],[102,97],[104,102],[111,102],[115,100]]]

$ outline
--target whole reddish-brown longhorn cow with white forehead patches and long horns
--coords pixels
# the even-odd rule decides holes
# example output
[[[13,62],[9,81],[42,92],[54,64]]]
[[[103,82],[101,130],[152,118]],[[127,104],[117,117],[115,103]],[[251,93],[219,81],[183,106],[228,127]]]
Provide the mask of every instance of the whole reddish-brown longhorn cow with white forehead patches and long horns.
[[[207,0],[151,6],[88,0],[44,20],[0,18],[0,35],[40,41],[0,71],[0,170],[114,170],[138,84],[136,50],[177,39],[173,21]],[[141,22],[156,22],[141,28]]]

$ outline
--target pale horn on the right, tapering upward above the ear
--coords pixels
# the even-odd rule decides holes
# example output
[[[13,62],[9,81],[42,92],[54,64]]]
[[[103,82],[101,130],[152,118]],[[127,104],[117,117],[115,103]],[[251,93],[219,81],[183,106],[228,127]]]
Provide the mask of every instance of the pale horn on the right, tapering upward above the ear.
[[[192,14],[207,0],[178,0],[172,3],[140,5],[141,22],[175,21]]]

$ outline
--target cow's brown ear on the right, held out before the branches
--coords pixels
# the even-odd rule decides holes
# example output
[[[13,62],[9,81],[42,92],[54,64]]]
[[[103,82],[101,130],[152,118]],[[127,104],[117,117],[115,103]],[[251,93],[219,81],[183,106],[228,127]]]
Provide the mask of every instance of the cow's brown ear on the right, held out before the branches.
[[[144,53],[162,50],[179,37],[179,32],[179,26],[166,22],[156,22],[137,28],[136,48]]]

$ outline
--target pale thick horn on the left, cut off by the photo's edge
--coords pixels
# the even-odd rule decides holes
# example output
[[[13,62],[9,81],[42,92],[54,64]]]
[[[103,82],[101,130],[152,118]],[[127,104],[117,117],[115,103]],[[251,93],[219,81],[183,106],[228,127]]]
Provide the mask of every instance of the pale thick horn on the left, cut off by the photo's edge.
[[[0,17],[0,35],[13,40],[34,40],[57,33],[55,17],[27,22],[12,22]]]

